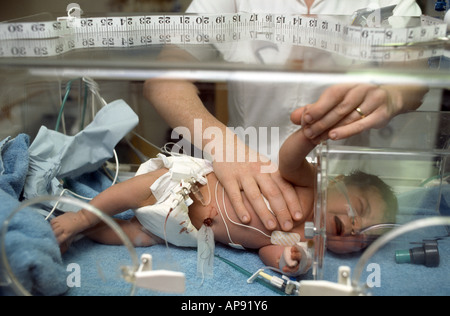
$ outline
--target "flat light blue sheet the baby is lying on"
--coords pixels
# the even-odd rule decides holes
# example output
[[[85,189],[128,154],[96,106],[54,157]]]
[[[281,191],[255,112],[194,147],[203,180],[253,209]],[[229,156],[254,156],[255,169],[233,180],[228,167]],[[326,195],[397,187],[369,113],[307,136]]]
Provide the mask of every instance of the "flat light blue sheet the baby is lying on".
[[[450,186],[445,188],[450,190]],[[422,198],[419,198],[422,195]],[[450,192],[450,191],[449,191]],[[414,192],[416,201],[411,201],[409,194],[400,197],[402,205],[399,213],[399,221],[409,222],[420,218],[437,215],[432,210],[424,207],[416,212],[411,208],[411,203],[429,200],[429,204],[436,203],[431,197],[435,196],[435,188],[420,189]],[[447,195],[450,198],[450,195]],[[415,204],[417,205],[417,204]],[[448,210],[447,210],[448,211]],[[123,214],[125,217],[130,213]],[[409,249],[418,245],[412,242],[422,242],[424,239],[447,236],[445,227],[435,227],[414,234],[403,236],[395,240],[377,253],[370,264],[371,266],[363,274],[361,281],[371,285],[369,293],[380,296],[397,295],[450,295],[450,239],[439,241],[441,264],[438,268],[427,268],[411,264],[399,265],[394,260],[396,250]],[[215,259],[214,278],[202,279],[197,277],[197,253],[195,249],[176,248],[169,245],[158,245],[150,248],[138,248],[138,255],[150,253],[155,260],[155,269],[173,269],[186,274],[187,290],[189,296],[272,296],[280,295],[270,287],[262,284],[247,284],[248,275],[245,275],[229,264]],[[239,265],[250,273],[262,268],[262,262],[256,252],[234,250],[223,245],[216,246],[216,254]],[[324,279],[336,282],[339,266],[347,265],[355,268],[361,253],[354,255],[335,255],[327,252],[324,265]],[[120,258],[120,260],[119,260]],[[67,295],[95,294],[96,291],[105,294],[127,294],[130,287],[121,281],[120,263],[130,261],[130,256],[124,247],[111,247],[95,244],[89,240],[81,240],[64,256],[65,264],[79,263],[82,265],[82,286],[72,288]],[[111,264],[117,262],[116,264]],[[374,273],[379,272],[379,276]],[[276,274],[275,274],[276,275]],[[375,276],[375,277],[374,277]],[[377,279],[378,277],[378,279]],[[312,280],[311,272],[303,276],[304,280]],[[366,282],[368,281],[368,282]],[[109,286],[117,284],[117,286]],[[117,282],[117,283],[116,283]],[[122,286],[119,286],[122,284]],[[148,290],[138,290],[137,295],[159,295]]]

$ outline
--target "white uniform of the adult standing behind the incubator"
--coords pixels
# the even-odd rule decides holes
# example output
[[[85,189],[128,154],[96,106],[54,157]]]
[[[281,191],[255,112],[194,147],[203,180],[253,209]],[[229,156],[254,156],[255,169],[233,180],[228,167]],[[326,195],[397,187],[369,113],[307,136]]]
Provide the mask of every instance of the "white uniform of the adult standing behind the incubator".
[[[421,10],[415,0],[315,0],[311,14],[352,15],[356,10],[368,6],[380,7],[398,4],[394,11],[398,16],[419,16]],[[194,0],[188,13],[226,14],[226,13],[273,13],[273,14],[306,14],[304,0]],[[295,59],[314,59],[322,68],[334,60],[327,53],[317,50],[293,48],[291,45],[276,45],[264,41],[249,41],[216,45],[224,59],[233,63],[277,64],[286,63],[296,49]],[[200,54],[209,53],[200,50]],[[249,53],[250,52],[250,53]],[[199,56],[205,60],[207,56]],[[332,68],[331,68],[332,69]],[[254,150],[278,161],[279,148],[298,126],[290,121],[290,114],[297,108],[318,100],[329,83],[254,83],[248,81],[229,82],[229,123],[230,127],[241,127],[236,134],[242,139],[250,132],[256,132],[258,139],[248,141]],[[261,129],[262,128],[262,129]],[[273,134],[274,133],[274,134]],[[277,134],[278,133],[278,134]],[[265,139],[267,138],[267,141]],[[252,146],[256,145],[256,146]]]

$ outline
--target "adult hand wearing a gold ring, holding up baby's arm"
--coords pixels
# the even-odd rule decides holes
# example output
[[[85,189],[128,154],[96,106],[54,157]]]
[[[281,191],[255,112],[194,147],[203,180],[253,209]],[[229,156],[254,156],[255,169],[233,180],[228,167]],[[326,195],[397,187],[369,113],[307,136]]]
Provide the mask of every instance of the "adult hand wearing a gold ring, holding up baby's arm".
[[[309,139],[340,140],[371,128],[382,128],[396,115],[417,109],[427,88],[422,86],[335,85],[319,100],[292,113]]]

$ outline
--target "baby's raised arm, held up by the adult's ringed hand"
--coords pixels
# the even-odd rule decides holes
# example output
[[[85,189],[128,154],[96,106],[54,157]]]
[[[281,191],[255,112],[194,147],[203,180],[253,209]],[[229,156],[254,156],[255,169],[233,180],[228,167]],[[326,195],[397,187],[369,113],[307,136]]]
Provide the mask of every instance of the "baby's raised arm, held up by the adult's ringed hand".
[[[289,136],[279,153],[281,176],[294,185],[312,187],[315,169],[306,157],[315,147],[316,144],[304,135],[303,129]]]

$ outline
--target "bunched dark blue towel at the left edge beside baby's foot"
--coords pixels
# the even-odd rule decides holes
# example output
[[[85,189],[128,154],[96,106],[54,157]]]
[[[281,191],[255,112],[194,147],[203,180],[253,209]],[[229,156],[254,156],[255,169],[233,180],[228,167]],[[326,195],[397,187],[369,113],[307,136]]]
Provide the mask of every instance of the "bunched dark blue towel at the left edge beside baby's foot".
[[[20,202],[28,171],[29,139],[19,135],[0,143],[0,222]],[[5,248],[15,277],[37,295],[60,295],[67,291],[66,271],[58,244],[48,222],[32,209],[15,215],[8,225]],[[2,289],[0,289],[2,290]],[[3,289],[3,295],[15,294]]]

